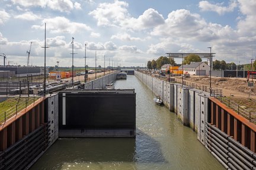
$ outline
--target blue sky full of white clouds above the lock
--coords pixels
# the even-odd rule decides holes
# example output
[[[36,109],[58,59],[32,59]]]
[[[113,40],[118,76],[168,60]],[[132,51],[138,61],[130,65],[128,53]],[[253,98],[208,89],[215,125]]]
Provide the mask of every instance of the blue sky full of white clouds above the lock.
[[[144,66],[165,53],[216,53],[213,60],[256,58],[255,0],[1,0],[0,55],[6,64]],[[86,44],[86,45],[85,45]],[[1,57],[1,56],[0,56]],[[181,63],[180,59],[175,59]],[[3,57],[0,65],[3,65]],[[113,63],[113,64],[112,64]]]

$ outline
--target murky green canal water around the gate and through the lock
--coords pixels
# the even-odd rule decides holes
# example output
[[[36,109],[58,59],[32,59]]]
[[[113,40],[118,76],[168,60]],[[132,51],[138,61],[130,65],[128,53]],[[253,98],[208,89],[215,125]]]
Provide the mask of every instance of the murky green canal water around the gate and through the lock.
[[[135,76],[114,85],[135,89],[136,138],[58,139],[31,169],[224,169]]]

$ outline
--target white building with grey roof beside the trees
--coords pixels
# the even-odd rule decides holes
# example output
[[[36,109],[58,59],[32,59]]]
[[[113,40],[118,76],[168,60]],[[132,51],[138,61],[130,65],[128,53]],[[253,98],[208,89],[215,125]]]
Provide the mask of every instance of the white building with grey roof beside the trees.
[[[209,76],[210,66],[204,62],[191,62],[190,64],[180,66],[179,69],[183,69],[184,74]]]

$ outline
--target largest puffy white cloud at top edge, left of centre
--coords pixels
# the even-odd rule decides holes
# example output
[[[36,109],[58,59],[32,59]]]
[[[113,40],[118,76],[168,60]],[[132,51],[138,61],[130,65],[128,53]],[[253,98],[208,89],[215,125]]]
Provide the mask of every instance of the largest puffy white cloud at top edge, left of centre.
[[[164,17],[155,9],[149,8],[138,18],[129,14],[128,4],[124,1],[114,1],[113,4],[103,3],[97,9],[89,12],[97,19],[98,26],[128,28],[130,30],[145,30],[164,24]]]

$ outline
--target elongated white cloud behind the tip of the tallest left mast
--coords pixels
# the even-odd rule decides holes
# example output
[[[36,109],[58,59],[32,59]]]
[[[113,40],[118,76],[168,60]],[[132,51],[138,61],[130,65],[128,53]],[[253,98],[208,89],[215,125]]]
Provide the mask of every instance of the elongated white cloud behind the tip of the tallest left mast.
[[[68,32],[70,34],[74,34],[75,32],[83,30],[91,31],[91,28],[87,25],[78,22],[71,22],[65,17],[43,19],[42,25],[33,25],[32,28],[44,30],[44,23],[47,23],[46,28],[52,33]]]

